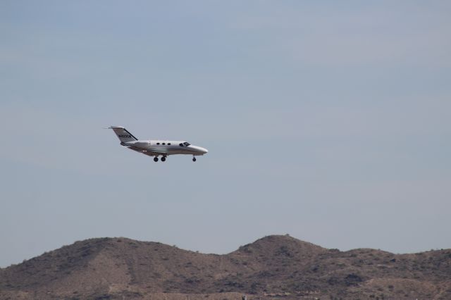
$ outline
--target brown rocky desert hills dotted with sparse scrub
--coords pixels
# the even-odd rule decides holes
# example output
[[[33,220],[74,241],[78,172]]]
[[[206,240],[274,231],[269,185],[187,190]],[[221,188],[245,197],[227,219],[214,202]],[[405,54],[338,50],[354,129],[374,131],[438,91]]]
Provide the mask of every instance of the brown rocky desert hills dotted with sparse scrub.
[[[87,239],[0,269],[0,299],[451,299],[451,249],[338,251],[273,235],[230,254]]]

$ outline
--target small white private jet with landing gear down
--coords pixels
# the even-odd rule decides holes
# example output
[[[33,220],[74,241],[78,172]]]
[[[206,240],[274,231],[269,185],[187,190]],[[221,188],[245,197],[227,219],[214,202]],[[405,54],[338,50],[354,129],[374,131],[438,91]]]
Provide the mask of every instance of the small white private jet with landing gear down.
[[[163,141],[156,139],[137,139],[128,130],[122,126],[110,126],[106,129],[112,129],[121,141],[121,146],[128,149],[135,150],[148,156],[155,156],[154,161],[159,160],[166,161],[166,158],[174,154],[190,154],[192,155],[192,161],[196,161],[196,156],[204,155],[208,152],[207,149],[194,146],[185,141]]]

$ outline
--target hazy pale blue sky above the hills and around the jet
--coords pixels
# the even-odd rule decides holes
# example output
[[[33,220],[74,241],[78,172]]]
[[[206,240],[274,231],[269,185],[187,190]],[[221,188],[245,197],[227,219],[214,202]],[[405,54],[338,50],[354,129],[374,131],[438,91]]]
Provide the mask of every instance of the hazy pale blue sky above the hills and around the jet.
[[[90,237],[451,248],[450,1],[0,1],[0,266]],[[209,154],[166,163],[108,125]]]

